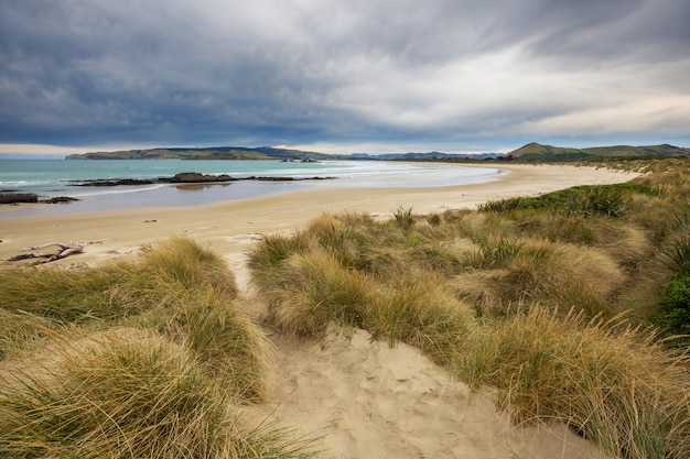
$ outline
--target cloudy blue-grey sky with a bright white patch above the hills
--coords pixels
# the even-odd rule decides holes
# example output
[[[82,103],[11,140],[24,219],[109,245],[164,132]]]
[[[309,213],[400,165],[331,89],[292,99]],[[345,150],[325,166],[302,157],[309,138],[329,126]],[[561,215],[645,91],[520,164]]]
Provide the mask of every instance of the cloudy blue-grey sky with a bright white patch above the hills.
[[[0,0],[0,154],[690,146],[688,0]]]

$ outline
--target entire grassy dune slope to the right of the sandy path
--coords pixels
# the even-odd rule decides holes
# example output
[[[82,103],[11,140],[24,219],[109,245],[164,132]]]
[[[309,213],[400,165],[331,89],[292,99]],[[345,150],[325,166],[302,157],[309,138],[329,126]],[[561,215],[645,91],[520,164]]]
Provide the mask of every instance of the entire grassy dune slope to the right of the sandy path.
[[[322,215],[258,243],[252,281],[285,331],[362,327],[497,387],[516,422],[564,422],[621,458],[690,457],[690,361],[651,324],[690,253],[690,166],[672,163],[476,211]]]

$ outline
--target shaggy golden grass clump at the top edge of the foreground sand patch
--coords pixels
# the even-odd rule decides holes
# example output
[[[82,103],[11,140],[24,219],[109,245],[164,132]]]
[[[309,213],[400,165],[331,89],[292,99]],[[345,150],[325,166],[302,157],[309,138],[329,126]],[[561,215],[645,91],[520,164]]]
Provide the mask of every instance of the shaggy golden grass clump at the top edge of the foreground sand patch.
[[[466,338],[474,319],[443,276],[409,265],[407,273],[396,271],[392,278],[369,264],[357,269],[356,258],[338,255],[339,240],[337,247],[324,247],[333,239],[323,238],[323,231],[331,233],[333,227],[323,221],[322,217],[305,230],[313,238],[306,244],[311,250],[295,251],[270,276],[262,272],[267,265],[262,245],[273,244],[272,238],[250,253],[254,282],[269,306],[268,319],[283,331],[314,337],[331,321],[364,328],[375,339],[407,342],[434,361],[449,362],[450,350]],[[401,266],[400,259],[407,260],[406,254],[388,254],[390,266]]]

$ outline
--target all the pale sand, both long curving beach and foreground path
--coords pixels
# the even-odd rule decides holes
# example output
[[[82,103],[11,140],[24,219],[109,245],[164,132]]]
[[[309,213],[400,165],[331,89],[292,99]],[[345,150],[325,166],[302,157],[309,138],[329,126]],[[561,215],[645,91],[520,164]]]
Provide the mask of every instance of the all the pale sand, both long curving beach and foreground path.
[[[465,165],[463,165],[465,166]],[[0,260],[46,242],[79,242],[84,253],[53,264],[95,265],[134,256],[142,244],[186,234],[222,253],[260,316],[245,252],[262,234],[304,227],[323,211],[386,218],[399,207],[425,214],[474,208],[489,199],[533,196],[633,174],[561,165],[500,165],[497,179],[431,188],[303,190],[191,208],[145,208],[12,218],[0,209]],[[53,250],[54,251],[54,250]],[[35,252],[35,251],[34,251]],[[326,458],[603,458],[560,425],[513,426],[489,394],[472,393],[417,350],[333,329],[324,342],[271,336],[276,371],[270,401],[249,408],[322,437]]]

